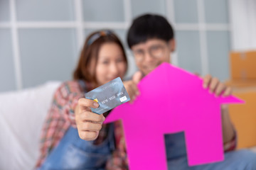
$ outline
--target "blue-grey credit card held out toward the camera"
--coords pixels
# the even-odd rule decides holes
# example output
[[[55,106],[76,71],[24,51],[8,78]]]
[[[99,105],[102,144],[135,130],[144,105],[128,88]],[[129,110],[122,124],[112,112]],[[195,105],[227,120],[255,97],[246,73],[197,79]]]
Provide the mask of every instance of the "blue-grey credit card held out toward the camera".
[[[92,108],[92,112],[97,114],[110,111],[112,108],[130,100],[120,77],[87,92],[85,98],[97,101],[100,104],[100,107]]]

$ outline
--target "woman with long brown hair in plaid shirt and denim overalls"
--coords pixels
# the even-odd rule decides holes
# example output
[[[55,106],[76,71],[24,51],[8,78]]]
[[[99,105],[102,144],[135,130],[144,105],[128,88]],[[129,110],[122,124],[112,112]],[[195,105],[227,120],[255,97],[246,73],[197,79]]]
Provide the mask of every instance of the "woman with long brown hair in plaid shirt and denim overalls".
[[[92,113],[90,108],[97,108],[98,103],[84,95],[112,79],[123,78],[126,71],[124,47],[114,33],[100,30],[88,36],[73,81],[55,91],[41,135],[38,169],[105,169],[115,148],[114,125],[102,125],[108,113]],[[133,101],[138,95],[136,84],[125,81],[124,86]],[[75,118],[80,121],[75,123]]]

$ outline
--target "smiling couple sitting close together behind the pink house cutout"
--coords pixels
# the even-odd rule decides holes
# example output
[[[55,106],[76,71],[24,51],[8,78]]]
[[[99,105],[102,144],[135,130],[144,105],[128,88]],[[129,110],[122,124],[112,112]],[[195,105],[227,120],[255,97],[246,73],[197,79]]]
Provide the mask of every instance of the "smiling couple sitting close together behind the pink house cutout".
[[[176,41],[166,18],[146,14],[134,19],[127,42],[139,68],[132,79],[123,81],[133,102],[139,95],[140,79],[159,64],[171,63]],[[99,105],[84,96],[112,79],[124,78],[126,72],[127,56],[117,35],[111,30],[100,30],[87,37],[73,80],[61,84],[53,96],[42,130],[37,169],[129,169],[122,123],[102,124],[109,112],[92,113],[90,108]],[[217,96],[232,94],[230,87],[210,75],[203,77],[202,86]],[[189,167],[184,135],[177,133],[165,136],[169,169],[256,169],[255,153],[235,151],[237,137],[228,107],[224,105],[221,109],[225,161]]]

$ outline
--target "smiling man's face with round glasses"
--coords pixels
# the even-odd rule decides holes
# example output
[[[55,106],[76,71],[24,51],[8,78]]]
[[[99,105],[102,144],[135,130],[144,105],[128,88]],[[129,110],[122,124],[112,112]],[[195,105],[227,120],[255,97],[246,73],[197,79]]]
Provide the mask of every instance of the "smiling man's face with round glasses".
[[[132,46],[132,52],[139,70],[149,74],[163,62],[171,62],[171,52],[175,49],[175,41],[166,42],[159,39],[150,39]]]

